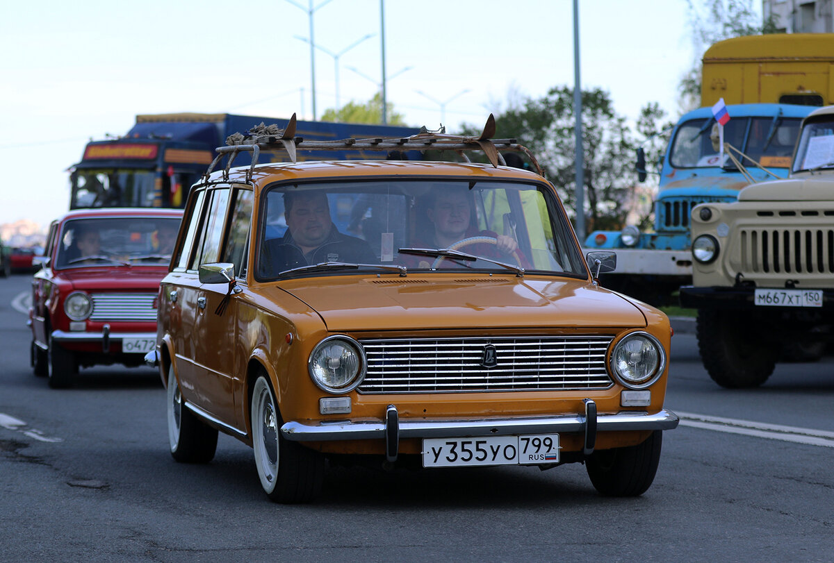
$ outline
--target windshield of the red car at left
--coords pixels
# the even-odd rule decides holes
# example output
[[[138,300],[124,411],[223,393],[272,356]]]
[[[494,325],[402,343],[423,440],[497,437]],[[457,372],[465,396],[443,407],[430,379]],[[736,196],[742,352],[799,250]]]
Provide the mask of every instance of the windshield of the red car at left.
[[[168,264],[179,222],[178,217],[73,219],[63,226],[53,263],[58,268]]]

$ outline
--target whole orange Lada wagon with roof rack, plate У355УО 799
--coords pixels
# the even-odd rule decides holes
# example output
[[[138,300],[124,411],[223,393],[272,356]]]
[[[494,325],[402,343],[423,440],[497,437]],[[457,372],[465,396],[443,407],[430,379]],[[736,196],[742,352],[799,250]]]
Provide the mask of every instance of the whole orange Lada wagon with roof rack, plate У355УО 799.
[[[146,356],[173,458],[211,461],[222,431],[280,502],[312,500],[345,459],[578,462],[603,495],[645,492],[678,423],[669,320],[599,286],[615,255],[583,257],[555,187],[503,155],[535,157],[486,131],[330,146],[289,129],[219,149],[288,162],[190,192]],[[333,147],[379,160],[296,162]],[[426,148],[465,162],[402,159]]]

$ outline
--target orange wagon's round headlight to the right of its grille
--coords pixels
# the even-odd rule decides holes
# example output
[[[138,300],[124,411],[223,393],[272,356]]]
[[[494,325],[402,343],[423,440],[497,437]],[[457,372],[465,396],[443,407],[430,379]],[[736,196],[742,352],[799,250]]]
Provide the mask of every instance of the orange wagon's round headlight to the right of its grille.
[[[614,346],[610,366],[624,386],[641,389],[650,386],[663,373],[666,351],[651,334],[635,332]]]

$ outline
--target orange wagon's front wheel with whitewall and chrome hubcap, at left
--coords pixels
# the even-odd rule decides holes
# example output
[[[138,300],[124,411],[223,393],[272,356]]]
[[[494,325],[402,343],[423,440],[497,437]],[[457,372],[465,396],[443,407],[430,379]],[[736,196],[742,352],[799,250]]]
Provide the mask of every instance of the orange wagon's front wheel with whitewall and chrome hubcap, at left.
[[[281,415],[264,375],[255,381],[250,413],[255,466],[264,492],[275,502],[312,501],[324,481],[324,456],[281,436]]]

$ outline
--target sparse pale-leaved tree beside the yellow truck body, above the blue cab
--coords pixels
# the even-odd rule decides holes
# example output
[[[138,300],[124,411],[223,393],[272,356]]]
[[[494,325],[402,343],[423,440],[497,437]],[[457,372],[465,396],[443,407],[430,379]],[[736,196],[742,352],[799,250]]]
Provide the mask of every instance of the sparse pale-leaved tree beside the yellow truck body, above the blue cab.
[[[759,22],[752,0],[686,0],[692,43],[698,60],[681,78],[681,105],[688,109],[701,106],[701,55],[713,43],[741,37],[775,33],[772,17]]]

